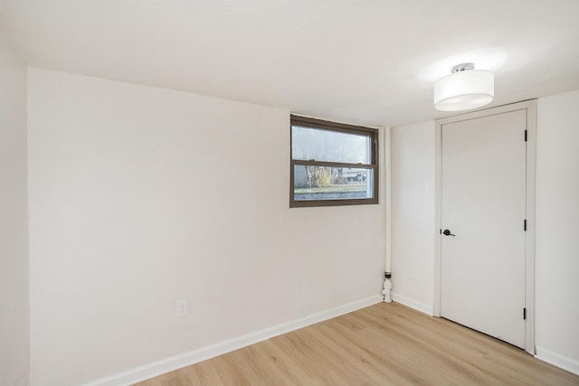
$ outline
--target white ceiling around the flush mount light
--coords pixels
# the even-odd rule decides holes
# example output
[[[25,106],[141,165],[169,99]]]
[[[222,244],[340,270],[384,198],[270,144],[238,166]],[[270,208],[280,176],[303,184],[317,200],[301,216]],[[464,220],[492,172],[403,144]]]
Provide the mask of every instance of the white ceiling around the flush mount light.
[[[0,0],[46,69],[372,126],[448,116],[432,85],[473,61],[491,106],[579,89],[579,0]]]

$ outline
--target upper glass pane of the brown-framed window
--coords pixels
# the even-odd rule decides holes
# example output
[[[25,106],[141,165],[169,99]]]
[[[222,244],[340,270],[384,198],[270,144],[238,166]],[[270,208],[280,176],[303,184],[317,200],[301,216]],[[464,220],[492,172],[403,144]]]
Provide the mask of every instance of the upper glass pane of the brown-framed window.
[[[291,157],[297,160],[371,164],[370,137],[321,130],[291,127]]]

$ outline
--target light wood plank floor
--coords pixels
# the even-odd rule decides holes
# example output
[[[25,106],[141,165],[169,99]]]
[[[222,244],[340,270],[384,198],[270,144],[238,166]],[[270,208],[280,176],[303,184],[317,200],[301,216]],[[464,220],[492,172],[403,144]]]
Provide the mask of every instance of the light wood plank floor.
[[[448,320],[375,306],[138,386],[579,385],[579,376]]]

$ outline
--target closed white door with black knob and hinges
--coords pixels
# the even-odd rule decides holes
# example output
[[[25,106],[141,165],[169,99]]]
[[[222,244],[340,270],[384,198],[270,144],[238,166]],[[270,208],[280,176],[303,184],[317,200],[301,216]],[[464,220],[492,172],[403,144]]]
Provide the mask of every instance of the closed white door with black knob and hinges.
[[[441,316],[521,348],[526,122],[517,110],[441,125]]]

